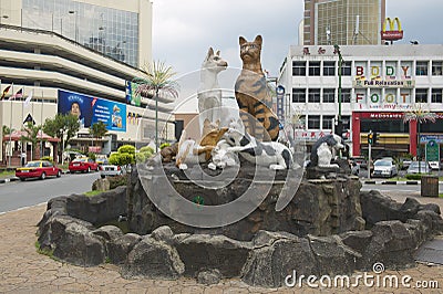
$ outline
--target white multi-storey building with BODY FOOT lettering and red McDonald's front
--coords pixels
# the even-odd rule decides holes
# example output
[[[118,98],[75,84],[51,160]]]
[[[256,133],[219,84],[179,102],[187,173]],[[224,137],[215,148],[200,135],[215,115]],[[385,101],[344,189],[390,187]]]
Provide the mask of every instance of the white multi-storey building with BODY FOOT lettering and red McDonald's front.
[[[316,141],[334,132],[339,116],[353,156],[418,156],[418,141],[443,137],[443,45],[291,46],[279,76],[290,94],[296,139]],[[341,98],[338,98],[341,84]],[[405,113],[435,114],[435,123],[403,122]],[[419,134],[420,133],[420,134]]]

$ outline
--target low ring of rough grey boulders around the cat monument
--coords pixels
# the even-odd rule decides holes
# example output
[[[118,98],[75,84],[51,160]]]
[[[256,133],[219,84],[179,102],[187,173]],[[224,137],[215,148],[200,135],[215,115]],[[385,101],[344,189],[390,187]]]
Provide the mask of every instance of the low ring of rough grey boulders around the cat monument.
[[[135,178],[133,175],[133,180]],[[352,201],[358,203],[350,201],[350,196],[334,192],[346,185],[354,187],[349,192],[356,189]],[[420,244],[443,232],[437,206],[422,206],[410,198],[398,203],[377,191],[359,192],[358,180],[352,178],[337,182],[305,181],[300,189],[306,196],[295,197],[292,207],[280,211],[281,216],[270,212],[275,210],[274,202],[268,200],[267,207],[261,208],[265,208],[262,211],[268,209],[268,214],[262,216],[276,220],[258,217],[258,220],[247,220],[237,228],[249,230],[247,234],[239,234],[241,239],[217,232],[181,232],[176,230],[185,228],[174,222],[171,227],[140,227],[146,233],[124,234],[114,225],[97,228],[100,223],[124,216],[131,206],[133,216],[138,216],[138,211],[154,211],[147,198],[133,193],[137,186],[130,187],[132,193],[117,188],[94,197],[51,199],[39,223],[40,249],[51,251],[61,261],[82,266],[105,261],[117,264],[125,277],[189,276],[205,284],[240,277],[249,285],[278,287],[293,271],[306,276],[333,276],[371,270],[375,262],[383,263],[387,269],[414,266],[413,256]],[[360,213],[347,218],[341,213],[344,206],[353,206],[352,211]],[[317,210],[312,210],[315,207]],[[316,213],[322,216],[321,221],[313,219],[311,214]],[[292,220],[295,216],[296,221]],[[271,223],[281,229],[271,228]],[[296,225],[298,223],[300,225]],[[268,228],[264,229],[264,224]],[[234,230],[226,232],[235,233]]]

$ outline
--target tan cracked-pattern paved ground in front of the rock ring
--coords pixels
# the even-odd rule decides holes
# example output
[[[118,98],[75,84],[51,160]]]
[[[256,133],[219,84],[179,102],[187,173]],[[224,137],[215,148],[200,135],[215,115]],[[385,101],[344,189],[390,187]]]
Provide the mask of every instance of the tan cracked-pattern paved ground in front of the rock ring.
[[[400,196],[393,196],[400,197]],[[405,196],[404,196],[405,197]],[[418,199],[419,201],[423,199]],[[427,199],[426,199],[427,200]],[[432,199],[434,200],[434,199]],[[35,224],[45,211],[45,204],[0,214],[0,293],[318,293],[303,285],[301,288],[253,287],[238,279],[223,280],[219,284],[205,286],[193,279],[162,281],[150,279],[125,280],[117,267],[103,264],[81,267],[52,260],[35,251]],[[373,274],[373,273],[369,273]],[[400,279],[410,275],[411,286],[418,281],[436,281],[439,288],[419,290],[400,285],[399,288],[364,286],[350,288],[322,288],[326,293],[442,293],[443,266],[418,264],[402,271],[380,274]],[[284,276],[281,279],[285,279]],[[305,280],[306,282],[306,280]],[[423,283],[422,283],[423,284]]]

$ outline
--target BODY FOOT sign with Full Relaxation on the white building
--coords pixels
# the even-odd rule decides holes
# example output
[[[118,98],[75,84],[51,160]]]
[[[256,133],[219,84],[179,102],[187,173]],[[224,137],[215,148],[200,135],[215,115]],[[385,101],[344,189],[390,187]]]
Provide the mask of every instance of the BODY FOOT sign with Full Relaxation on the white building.
[[[405,111],[411,108],[412,62],[356,62],[354,102],[358,109]]]

